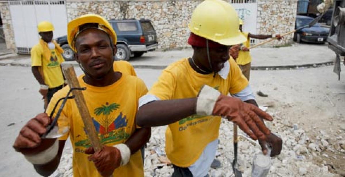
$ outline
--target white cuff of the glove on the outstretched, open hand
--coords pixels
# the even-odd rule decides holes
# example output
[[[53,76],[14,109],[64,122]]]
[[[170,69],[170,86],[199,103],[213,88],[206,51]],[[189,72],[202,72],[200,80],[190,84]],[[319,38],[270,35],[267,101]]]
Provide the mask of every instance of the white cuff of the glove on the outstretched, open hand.
[[[196,102],[196,114],[201,116],[212,115],[213,108],[220,93],[218,90],[204,85],[198,94]]]

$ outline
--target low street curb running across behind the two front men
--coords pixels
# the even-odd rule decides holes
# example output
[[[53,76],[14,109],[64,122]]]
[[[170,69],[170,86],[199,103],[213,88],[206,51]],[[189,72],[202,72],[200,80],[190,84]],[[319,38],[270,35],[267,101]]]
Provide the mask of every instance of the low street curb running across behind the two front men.
[[[77,63],[71,63],[74,67],[79,67]],[[311,63],[303,65],[284,65],[284,66],[252,66],[250,70],[290,70],[290,69],[307,69],[317,68],[333,65],[333,61],[326,61],[321,63]],[[21,63],[0,63],[0,66],[20,66],[20,67],[31,67],[31,64]],[[136,69],[165,69],[167,65],[132,65]]]

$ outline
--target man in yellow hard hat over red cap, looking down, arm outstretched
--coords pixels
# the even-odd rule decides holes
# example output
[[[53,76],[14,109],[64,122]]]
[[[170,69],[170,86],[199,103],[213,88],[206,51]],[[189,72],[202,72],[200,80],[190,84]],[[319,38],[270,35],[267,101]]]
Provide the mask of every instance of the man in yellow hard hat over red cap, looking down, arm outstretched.
[[[251,138],[278,155],[282,140],[271,134],[247,79],[229,57],[232,45],[246,41],[235,9],[222,0],[205,0],[194,10],[188,39],[193,55],[169,65],[148,94],[139,100],[137,124],[168,125],[166,154],[172,176],[206,176],[215,158],[221,117],[236,123]],[[234,97],[227,96],[228,94]],[[244,101],[244,102],[243,102]]]

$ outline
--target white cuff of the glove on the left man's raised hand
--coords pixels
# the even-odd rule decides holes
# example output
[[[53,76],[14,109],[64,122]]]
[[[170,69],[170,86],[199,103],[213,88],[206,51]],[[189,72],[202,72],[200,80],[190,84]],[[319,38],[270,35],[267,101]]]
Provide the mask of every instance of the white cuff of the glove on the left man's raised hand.
[[[46,164],[56,157],[59,151],[59,140],[56,140],[54,144],[48,149],[35,154],[35,155],[24,155],[24,157],[31,163],[35,165]]]

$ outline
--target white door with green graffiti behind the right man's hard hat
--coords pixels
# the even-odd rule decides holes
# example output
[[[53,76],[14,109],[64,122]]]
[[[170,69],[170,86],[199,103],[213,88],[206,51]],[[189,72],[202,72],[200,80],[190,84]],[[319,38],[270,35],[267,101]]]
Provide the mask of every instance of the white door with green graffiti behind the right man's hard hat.
[[[236,9],[238,17],[243,20],[243,31],[256,34],[257,0],[229,0],[229,2]],[[255,39],[250,40],[251,44],[255,42]]]

